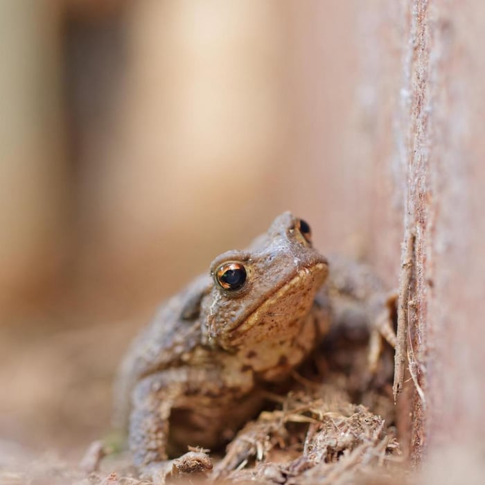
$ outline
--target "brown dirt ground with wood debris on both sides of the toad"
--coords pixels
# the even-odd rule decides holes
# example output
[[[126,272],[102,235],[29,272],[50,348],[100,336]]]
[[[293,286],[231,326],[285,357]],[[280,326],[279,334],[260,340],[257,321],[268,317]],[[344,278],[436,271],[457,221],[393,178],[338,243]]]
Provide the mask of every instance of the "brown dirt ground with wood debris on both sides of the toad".
[[[103,352],[87,352],[99,350],[96,342],[102,339],[103,328],[91,328],[61,333],[45,346],[33,346],[37,351],[27,346],[17,355],[17,390],[28,392],[24,409],[17,409],[21,420],[12,421],[10,432],[23,436],[24,444],[0,443],[2,485],[148,483],[136,478],[130,457],[116,449],[120,441],[109,431],[109,369],[127,333],[123,324],[119,328],[118,340],[103,340]],[[65,355],[52,353],[53,345],[63,348]],[[33,362],[38,362],[34,372]],[[386,349],[378,373],[370,376],[367,335],[330,335],[294,373],[288,394],[268,394],[258,418],[234,436],[225,452],[210,454],[212,473],[188,477],[174,468],[169,479],[290,485],[396,483],[399,477],[404,482],[409,472],[405,446],[398,441],[392,369],[391,351]],[[44,400],[39,398],[32,409],[27,396],[36,389],[38,397],[44,393]],[[52,405],[49,396],[62,397]],[[21,402],[19,394],[16,397]],[[29,427],[35,435],[28,433]]]

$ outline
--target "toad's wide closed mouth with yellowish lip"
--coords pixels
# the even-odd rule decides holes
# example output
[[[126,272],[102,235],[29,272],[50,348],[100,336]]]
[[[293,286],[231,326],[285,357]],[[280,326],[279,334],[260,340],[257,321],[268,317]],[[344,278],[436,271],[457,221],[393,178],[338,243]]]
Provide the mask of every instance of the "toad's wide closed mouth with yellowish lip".
[[[247,330],[258,324],[265,315],[270,313],[270,308],[274,304],[274,301],[282,301],[285,299],[285,296],[295,289],[305,288],[310,279],[315,279],[315,283],[313,283],[312,286],[316,292],[321,283],[324,282],[327,271],[327,263],[317,263],[311,267],[302,267],[292,279],[283,283],[279,288],[276,288],[270,296],[265,298],[265,301],[258,303],[256,308],[249,313],[247,317],[231,322],[231,324],[227,326],[227,331],[232,336],[234,333],[239,334],[247,332]]]

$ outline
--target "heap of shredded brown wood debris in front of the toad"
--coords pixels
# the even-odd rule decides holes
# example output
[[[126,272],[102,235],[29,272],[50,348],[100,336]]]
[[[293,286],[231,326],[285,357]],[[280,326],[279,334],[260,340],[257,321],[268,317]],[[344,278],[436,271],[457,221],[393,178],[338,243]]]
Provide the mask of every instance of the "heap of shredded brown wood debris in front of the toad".
[[[283,407],[263,412],[229,444],[215,468],[231,482],[346,484],[400,461],[392,427],[342,389],[299,390]]]

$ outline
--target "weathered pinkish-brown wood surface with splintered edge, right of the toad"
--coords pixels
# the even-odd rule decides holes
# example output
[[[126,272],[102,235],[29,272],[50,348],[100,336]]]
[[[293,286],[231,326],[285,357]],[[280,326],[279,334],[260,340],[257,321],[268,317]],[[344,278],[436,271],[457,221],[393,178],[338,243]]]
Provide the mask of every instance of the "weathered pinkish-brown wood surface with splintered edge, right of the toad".
[[[414,389],[419,462],[427,450],[477,443],[485,431],[485,8],[439,0],[373,7],[364,12],[363,55],[375,89],[375,250],[392,261],[389,247],[402,235],[399,351],[408,357],[405,387]],[[399,378],[405,369],[396,369]]]

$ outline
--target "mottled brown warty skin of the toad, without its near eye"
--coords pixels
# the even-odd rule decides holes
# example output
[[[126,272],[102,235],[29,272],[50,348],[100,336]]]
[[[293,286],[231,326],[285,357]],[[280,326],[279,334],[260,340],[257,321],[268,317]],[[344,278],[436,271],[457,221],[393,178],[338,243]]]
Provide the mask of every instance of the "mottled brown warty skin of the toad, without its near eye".
[[[361,265],[337,260],[322,287],[328,262],[300,221],[285,212],[247,250],[215,258],[209,274],[168,300],[128,351],[116,420],[130,413],[134,464],[155,482],[174,466],[211,468],[203,452],[186,453],[182,465],[168,457],[227,441],[261,408],[265,385],[288,377],[327,333],[330,315],[340,319],[349,302],[380,328],[389,323],[382,285]],[[227,262],[245,268],[241,288],[218,283]]]

